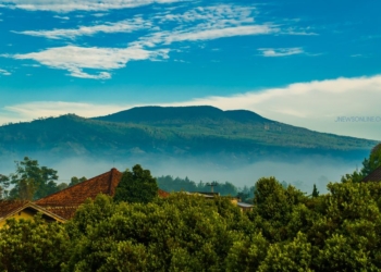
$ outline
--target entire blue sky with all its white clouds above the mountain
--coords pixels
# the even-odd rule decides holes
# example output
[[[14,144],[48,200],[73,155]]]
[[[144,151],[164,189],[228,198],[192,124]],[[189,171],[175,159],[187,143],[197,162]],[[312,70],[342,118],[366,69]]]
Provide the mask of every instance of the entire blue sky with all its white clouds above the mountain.
[[[381,140],[380,10],[376,0],[0,0],[0,124],[211,104]]]

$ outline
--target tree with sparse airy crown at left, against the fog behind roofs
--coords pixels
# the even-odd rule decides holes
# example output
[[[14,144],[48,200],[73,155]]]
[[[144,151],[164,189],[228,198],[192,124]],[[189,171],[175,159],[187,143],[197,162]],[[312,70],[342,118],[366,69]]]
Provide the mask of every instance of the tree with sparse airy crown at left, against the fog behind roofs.
[[[39,199],[58,190],[57,171],[40,166],[37,160],[25,157],[23,161],[15,161],[16,171],[10,175],[14,185],[10,193],[11,198]],[[32,196],[32,197],[30,197]]]

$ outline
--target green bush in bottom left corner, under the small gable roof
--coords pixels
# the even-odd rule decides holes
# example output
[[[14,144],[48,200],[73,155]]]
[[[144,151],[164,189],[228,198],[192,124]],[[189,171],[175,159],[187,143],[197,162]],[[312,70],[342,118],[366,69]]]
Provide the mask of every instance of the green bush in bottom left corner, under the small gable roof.
[[[8,221],[0,237],[1,271],[56,272],[67,258],[70,242],[64,227],[47,224],[40,215],[34,221]]]

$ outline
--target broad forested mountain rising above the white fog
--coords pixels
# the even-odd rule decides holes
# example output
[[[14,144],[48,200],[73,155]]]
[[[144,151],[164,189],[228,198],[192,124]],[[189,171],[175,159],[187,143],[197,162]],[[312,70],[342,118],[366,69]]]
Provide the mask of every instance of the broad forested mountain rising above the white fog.
[[[94,119],[67,114],[0,126],[0,154],[364,158],[376,144],[212,107],[142,107]]]

